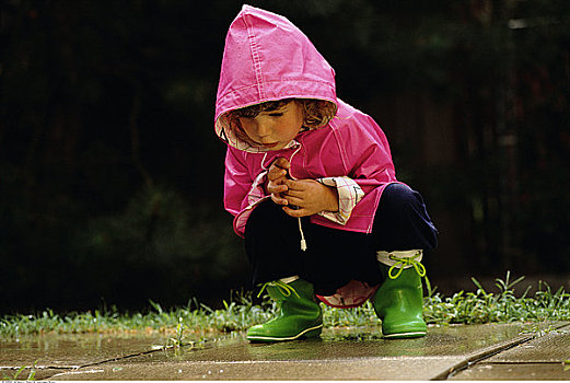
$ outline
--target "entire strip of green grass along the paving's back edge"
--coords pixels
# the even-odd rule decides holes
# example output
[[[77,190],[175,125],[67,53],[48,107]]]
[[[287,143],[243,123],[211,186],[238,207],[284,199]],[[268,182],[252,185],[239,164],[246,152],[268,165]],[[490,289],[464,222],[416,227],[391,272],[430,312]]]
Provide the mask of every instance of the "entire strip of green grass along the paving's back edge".
[[[472,278],[475,292],[460,291],[444,297],[427,283],[424,317],[429,324],[482,324],[510,322],[570,321],[570,293],[563,288],[554,291],[539,282],[533,297],[527,287],[515,297],[514,287],[524,277],[511,280],[496,279],[497,293],[488,292]],[[5,315],[0,317],[0,336],[18,338],[37,334],[81,333],[164,333],[171,336],[173,346],[183,343],[185,334],[206,332],[231,333],[271,318],[277,305],[268,298],[254,303],[252,293],[232,293],[222,309],[211,309],[191,300],[184,307],[164,310],[150,302],[147,313],[119,313],[116,307],[104,312],[58,314],[47,309],[36,314]],[[370,302],[357,309],[338,310],[323,305],[325,327],[377,325],[379,320]]]

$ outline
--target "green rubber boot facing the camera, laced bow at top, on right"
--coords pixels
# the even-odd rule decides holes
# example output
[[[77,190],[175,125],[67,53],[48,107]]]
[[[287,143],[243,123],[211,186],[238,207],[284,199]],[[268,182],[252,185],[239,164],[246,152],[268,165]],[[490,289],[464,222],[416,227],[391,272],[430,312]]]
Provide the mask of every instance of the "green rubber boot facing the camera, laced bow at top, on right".
[[[373,298],[374,311],[382,321],[382,334],[389,339],[426,336],[421,287],[421,277],[426,276],[426,268],[415,259],[416,256],[421,257],[421,252],[416,253],[414,257],[386,254],[393,263],[392,266],[387,266],[381,260],[381,270],[385,279]]]

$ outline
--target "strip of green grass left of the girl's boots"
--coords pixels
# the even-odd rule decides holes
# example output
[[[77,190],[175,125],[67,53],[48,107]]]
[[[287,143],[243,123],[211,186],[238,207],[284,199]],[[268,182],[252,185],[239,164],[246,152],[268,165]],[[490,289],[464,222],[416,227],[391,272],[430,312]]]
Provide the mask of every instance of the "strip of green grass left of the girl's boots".
[[[150,302],[147,313],[120,313],[116,307],[84,313],[55,313],[46,309],[40,313],[5,315],[0,318],[0,336],[19,337],[28,334],[81,334],[81,333],[164,333],[172,343],[182,341],[183,333],[240,330],[253,323],[271,317],[276,306],[268,301],[254,305],[251,293],[234,293],[224,307],[212,310],[196,300],[184,307],[164,310]]]

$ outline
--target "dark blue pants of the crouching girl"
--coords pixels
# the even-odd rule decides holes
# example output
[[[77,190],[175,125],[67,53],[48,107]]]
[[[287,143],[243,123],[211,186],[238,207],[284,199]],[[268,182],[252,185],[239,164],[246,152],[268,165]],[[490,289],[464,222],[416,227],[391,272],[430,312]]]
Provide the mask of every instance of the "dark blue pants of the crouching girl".
[[[254,285],[300,276],[314,285],[316,294],[333,295],[352,279],[382,282],[376,251],[430,249],[438,244],[421,195],[403,184],[385,188],[370,234],[312,224],[309,217],[302,225],[305,252],[296,218],[271,200],[254,209],[245,228]]]

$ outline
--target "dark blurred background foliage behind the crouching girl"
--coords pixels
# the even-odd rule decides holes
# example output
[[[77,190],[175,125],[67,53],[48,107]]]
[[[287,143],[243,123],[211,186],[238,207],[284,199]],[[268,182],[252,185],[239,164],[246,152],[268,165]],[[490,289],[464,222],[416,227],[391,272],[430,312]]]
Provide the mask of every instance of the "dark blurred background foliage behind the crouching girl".
[[[432,276],[570,270],[568,1],[249,3],[300,26],[386,131],[441,232]],[[212,129],[242,1],[1,7],[0,311],[247,285]]]

